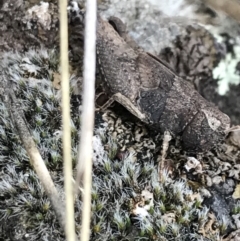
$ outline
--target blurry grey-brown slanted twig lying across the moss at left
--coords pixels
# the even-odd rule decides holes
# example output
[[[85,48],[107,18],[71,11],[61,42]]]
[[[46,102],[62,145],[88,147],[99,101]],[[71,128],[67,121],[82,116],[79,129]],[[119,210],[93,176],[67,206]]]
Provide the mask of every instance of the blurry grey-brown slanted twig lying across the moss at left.
[[[4,83],[4,81],[2,81]],[[59,194],[52,181],[52,178],[47,170],[47,167],[33,141],[30,131],[27,127],[24,113],[21,110],[17,98],[11,88],[11,86],[5,86],[4,88],[4,102],[8,107],[11,119],[15,124],[18,134],[22,140],[22,143],[30,157],[30,163],[35,169],[47,196],[50,198],[53,208],[56,212],[60,225],[64,229],[65,227],[65,213],[63,209],[63,203],[60,201]]]

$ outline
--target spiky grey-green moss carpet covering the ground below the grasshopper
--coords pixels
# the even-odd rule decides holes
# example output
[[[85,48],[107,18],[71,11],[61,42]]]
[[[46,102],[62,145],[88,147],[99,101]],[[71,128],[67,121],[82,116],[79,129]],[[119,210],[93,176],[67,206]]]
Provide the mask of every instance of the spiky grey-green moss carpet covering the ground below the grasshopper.
[[[25,55],[8,53],[3,58],[2,68],[64,199],[61,92],[55,86],[59,73],[58,55],[45,50],[29,51]],[[78,85],[75,76],[70,78],[70,84],[75,164],[81,98],[74,95]],[[2,102],[0,110],[0,225],[4,240],[64,240],[51,204],[29,165],[26,151]],[[207,222],[209,212],[201,207],[202,199],[192,198],[193,191],[183,180],[173,181],[164,175],[163,183],[159,184],[157,163],[152,160],[155,142],[143,127],[124,124],[120,118],[115,123],[113,119],[114,114],[109,112],[103,116],[97,114],[95,121],[91,240],[202,238],[198,228]],[[149,205],[148,209],[136,201],[146,189],[153,193],[153,205],[144,203]],[[79,230],[80,198],[76,201],[75,212]],[[224,229],[224,220],[221,225]],[[211,240],[217,238],[218,233]]]

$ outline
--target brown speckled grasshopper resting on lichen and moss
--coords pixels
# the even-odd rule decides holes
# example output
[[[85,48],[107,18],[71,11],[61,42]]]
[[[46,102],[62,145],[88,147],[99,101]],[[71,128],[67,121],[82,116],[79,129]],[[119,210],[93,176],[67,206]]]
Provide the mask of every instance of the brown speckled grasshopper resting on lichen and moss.
[[[96,48],[109,102],[119,102],[156,131],[180,136],[191,153],[206,151],[224,138],[229,117],[166,63],[138,47],[120,19],[98,17]]]

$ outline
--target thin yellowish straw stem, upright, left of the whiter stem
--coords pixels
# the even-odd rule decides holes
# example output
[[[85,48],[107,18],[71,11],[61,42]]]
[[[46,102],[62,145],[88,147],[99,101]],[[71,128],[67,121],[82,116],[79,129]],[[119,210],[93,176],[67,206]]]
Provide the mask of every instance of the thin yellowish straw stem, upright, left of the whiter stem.
[[[62,88],[62,123],[63,123],[63,159],[64,188],[66,198],[65,234],[68,241],[75,240],[74,198],[72,185],[69,63],[68,63],[68,18],[67,0],[60,0],[60,52],[61,52],[61,88]]]

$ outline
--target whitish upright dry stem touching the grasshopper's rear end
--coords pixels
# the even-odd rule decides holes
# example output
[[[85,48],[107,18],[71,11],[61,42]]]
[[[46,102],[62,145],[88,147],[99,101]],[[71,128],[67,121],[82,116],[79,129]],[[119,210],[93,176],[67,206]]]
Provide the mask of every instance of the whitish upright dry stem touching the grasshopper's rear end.
[[[84,72],[83,72],[83,113],[81,140],[79,146],[78,174],[79,185],[83,177],[83,212],[81,241],[88,241],[91,218],[91,186],[92,186],[92,136],[94,127],[95,65],[96,65],[96,0],[87,0],[84,40]]]

